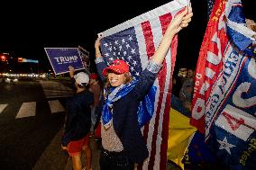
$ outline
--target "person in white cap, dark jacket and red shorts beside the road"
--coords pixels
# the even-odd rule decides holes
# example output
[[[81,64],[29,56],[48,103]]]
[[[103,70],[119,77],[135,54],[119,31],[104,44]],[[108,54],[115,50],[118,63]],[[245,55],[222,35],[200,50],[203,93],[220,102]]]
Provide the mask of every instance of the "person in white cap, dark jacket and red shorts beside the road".
[[[81,170],[81,152],[86,152],[86,169],[91,169],[91,148],[89,131],[91,127],[91,104],[94,94],[89,88],[89,76],[84,72],[74,75],[74,67],[69,67],[69,75],[75,80],[76,94],[67,100],[66,121],[61,139],[62,148],[72,157],[74,170]]]

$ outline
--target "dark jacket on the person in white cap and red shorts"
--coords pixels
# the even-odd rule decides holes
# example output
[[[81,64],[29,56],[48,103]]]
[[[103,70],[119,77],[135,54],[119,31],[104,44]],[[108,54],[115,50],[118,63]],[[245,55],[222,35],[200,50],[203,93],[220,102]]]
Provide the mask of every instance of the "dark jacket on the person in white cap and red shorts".
[[[87,136],[91,127],[90,104],[93,101],[94,95],[88,90],[74,94],[67,100],[67,117],[62,136],[63,146],[67,146],[72,140],[82,139]]]

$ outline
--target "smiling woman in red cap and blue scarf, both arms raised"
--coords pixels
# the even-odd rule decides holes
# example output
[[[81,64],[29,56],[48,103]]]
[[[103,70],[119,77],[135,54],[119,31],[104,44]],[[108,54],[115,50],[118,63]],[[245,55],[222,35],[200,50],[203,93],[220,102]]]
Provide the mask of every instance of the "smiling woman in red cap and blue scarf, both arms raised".
[[[114,59],[109,66],[100,51],[100,37],[95,42],[97,72],[105,82],[105,103],[101,117],[101,170],[133,170],[135,164],[149,157],[146,141],[138,121],[139,105],[151,90],[162,62],[178,31],[187,27],[193,13],[185,9],[169,23],[160,46],[142,75],[133,80],[128,64]],[[171,71],[171,70],[169,70]]]

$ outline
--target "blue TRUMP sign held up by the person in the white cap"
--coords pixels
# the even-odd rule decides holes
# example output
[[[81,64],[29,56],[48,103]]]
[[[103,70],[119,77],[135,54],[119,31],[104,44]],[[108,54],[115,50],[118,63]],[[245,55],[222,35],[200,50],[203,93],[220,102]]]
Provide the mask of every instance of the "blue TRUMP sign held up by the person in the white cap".
[[[78,48],[44,48],[55,75],[68,73],[69,66],[84,69]]]

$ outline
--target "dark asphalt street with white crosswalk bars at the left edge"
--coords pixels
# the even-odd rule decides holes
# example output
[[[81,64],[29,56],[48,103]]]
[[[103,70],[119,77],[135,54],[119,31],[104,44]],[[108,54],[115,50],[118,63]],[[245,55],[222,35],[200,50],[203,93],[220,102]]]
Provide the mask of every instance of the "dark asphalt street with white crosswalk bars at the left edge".
[[[59,140],[66,97],[72,93],[56,81],[0,83],[1,170],[29,170],[35,165],[39,170],[46,151],[50,154],[43,158],[49,163],[41,161],[41,169],[65,169],[68,155]]]

